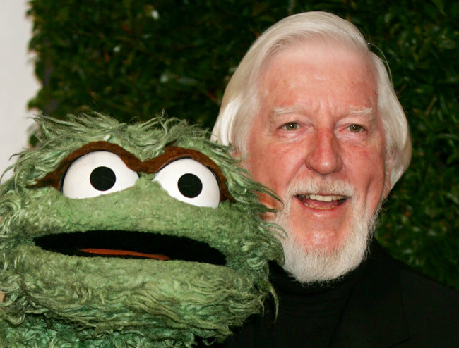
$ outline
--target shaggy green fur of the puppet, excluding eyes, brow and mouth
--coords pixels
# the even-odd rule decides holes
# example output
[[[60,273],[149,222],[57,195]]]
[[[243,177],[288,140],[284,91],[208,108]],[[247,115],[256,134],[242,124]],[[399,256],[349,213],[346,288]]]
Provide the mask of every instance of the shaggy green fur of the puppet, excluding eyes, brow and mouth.
[[[0,187],[0,347],[192,347],[221,341],[263,309],[273,293],[268,261],[282,263],[274,226],[259,216],[263,187],[250,180],[208,133],[155,118],[126,125],[98,113],[66,121],[41,116],[40,147],[24,151]],[[145,161],[167,144],[196,149],[227,178],[235,202],[217,209],[169,197],[139,173],[129,189],[69,199],[31,188],[84,144],[105,141]],[[225,266],[187,261],[66,256],[37,247],[42,235],[125,230],[205,242]]]

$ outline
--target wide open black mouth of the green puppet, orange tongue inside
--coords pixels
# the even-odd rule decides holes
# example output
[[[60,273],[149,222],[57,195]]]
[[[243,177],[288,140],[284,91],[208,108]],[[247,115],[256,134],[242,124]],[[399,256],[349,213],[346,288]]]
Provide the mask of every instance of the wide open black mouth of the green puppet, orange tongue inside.
[[[204,242],[148,232],[97,230],[44,235],[35,244],[47,251],[73,256],[115,256],[182,260],[225,265],[225,255]]]

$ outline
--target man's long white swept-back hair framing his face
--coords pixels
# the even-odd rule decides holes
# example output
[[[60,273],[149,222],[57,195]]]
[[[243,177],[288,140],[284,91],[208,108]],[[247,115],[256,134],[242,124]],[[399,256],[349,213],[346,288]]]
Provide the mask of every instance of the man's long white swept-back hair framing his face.
[[[258,81],[261,69],[276,52],[311,39],[346,44],[368,57],[376,79],[378,112],[386,131],[386,154],[392,160],[392,188],[411,159],[410,130],[405,113],[383,61],[369,50],[369,44],[357,27],[332,13],[291,15],[256,39],[229,80],[212,139],[222,144],[232,143],[237,151],[246,153],[248,132],[260,108]]]

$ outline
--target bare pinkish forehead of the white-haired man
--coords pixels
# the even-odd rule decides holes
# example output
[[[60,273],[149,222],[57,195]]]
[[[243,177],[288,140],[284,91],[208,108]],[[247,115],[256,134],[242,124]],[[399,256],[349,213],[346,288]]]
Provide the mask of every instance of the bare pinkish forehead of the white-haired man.
[[[290,105],[295,98],[311,99],[309,104],[314,104],[327,94],[347,103],[347,99],[356,99],[354,92],[359,92],[362,95],[357,100],[366,99],[366,107],[376,108],[376,88],[366,54],[344,44],[330,49],[328,42],[307,42],[278,51],[263,66],[258,79],[258,95],[268,104],[273,101],[266,98],[273,95]],[[350,93],[343,93],[346,89]]]

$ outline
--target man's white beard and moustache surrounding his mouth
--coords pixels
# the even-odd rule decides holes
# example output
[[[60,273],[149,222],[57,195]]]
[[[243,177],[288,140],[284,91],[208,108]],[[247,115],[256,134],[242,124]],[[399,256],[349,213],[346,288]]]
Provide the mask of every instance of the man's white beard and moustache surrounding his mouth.
[[[383,199],[374,212],[368,211],[363,203],[359,206],[354,204],[350,219],[354,223],[349,226],[347,237],[338,248],[326,251],[302,246],[291,232],[289,218],[291,197],[302,192],[330,192],[352,197],[354,201],[363,200],[359,200],[359,197],[355,196],[354,189],[345,182],[333,180],[325,185],[323,182],[300,183],[290,187],[285,195],[287,199],[284,209],[273,220],[286,232],[286,236],[279,236],[285,254],[283,265],[285,271],[291,273],[299,282],[304,283],[326,282],[340,278],[357,268],[366,257]]]

